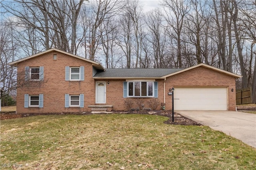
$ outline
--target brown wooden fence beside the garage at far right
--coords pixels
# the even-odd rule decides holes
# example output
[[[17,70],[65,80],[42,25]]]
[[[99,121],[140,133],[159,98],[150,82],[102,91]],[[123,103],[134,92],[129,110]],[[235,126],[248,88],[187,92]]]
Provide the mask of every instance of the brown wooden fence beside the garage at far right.
[[[252,103],[252,88],[242,88],[236,90],[236,104]]]

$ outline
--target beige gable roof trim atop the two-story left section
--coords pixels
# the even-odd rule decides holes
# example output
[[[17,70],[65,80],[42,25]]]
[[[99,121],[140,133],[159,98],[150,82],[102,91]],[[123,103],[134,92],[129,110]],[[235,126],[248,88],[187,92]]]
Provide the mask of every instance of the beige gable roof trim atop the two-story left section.
[[[17,64],[20,63],[20,62],[22,62],[22,61],[26,61],[26,60],[28,60],[28,59],[32,59],[32,58],[34,58],[34,57],[38,57],[38,56],[44,55],[44,54],[50,53],[50,52],[52,52],[52,51],[57,51],[57,52],[59,52],[59,53],[66,54],[66,55],[69,55],[69,56],[71,56],[71,57],[75,57],[75,58],[77,58],[77,59],[81,59],[81,60],[83,60],[83,61],[87,61],[87,62],[89,62],[89,63],[92,63],[92,65],[93,65],[95,68],[97,68],[98,70],[105,70],[104,67],[102,66],[102,64],[100,64],[100,63],[98,63],[98,62],[96,62],[96,61],[92,61],[92,60],[89,60],[89,59],[85,59],[85,58],[83,58],[83,57],[80,57],[80,56],[77,56],[77,55],[74,55],[74,54],[71,54],[71,53],[68,53],[68,52],[59,50],[59,49],[55,49],[55,48],[48,49],[48,50],[43,51],[43,52],[41,52],[41,53],[37,53],[37,54],[35,54],[35,55],[31,55],[31,56],[25,57],[25,58],[23,58],[23,59],[19,59],[19,60],[13,61],[13,62],[8,63],[8,64],[9,64],[9,65],[12,65],[12,66],[17,66]]]

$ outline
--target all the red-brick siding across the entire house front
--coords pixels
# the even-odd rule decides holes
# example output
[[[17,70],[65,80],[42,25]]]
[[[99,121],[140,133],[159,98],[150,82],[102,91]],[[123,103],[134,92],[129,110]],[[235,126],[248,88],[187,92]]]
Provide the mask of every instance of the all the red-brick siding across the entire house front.
[[[53,55],[57,55],[57,60],[53,60]],[[44,82],[38,87],[26,87],[17,89],[17,113],[61,113],[61,112],[84,112],[90,111],[90,105],[95,105],[95,84],[96,82],[106,82],[106,105],[112,105],[113,110],[126,110],[123,98],[123,80],[94,80],[92,77],[92,63],[82,61],[75,57],[59,52],[50,52],[42,56],[28,59],[18,64],[18,72],[25,72],[25,66],[44,66]],[[66,66],[84,66],[84,81],[65,81]],[[22,77],[22,76],[21,76]],[[228,87],[228,110],[236,109],[235,77],[228,76],[222,72],[205,68],[203,66],[193,68],[186,72],[181,72],[166,78],[159,79],[158,100],[164,103],[166,97],[166,110],[172,108],[172,96],[168,96],[169,89],[173,86],[225,86]],[[109,82],[109,84],[107,83]],[[165,92],[164,92],[165,82]],[[44,94],[44,107],[24,107],[24,94],[39,95]],[[84,107],[65,108],[65,94],[84,94]],[[132,98],[136,99],[136,98]],[[148,101],[153,98],[142,98],[144,108],[150,108]],[[132,108],[138,108],[136,103]],[[160,105],[158,106],[160,109]]]

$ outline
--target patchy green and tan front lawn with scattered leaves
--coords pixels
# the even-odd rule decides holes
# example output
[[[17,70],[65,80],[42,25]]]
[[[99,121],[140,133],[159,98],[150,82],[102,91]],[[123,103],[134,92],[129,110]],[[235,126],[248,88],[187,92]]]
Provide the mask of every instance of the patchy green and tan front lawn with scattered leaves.
[[[256,169],[256,149],[207,126],[139,114],[1,120],[2,165],[23,169]]]

